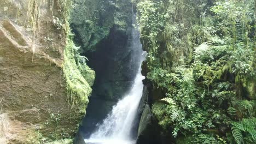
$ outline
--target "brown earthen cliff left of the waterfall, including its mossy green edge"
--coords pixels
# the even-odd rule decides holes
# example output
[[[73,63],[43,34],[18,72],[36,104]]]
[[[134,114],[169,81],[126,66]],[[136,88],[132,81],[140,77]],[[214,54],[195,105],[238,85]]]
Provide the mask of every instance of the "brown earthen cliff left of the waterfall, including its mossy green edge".
[[[0,3],[0,143],[73,137],[95,74],[69,36],[71,1]]]

